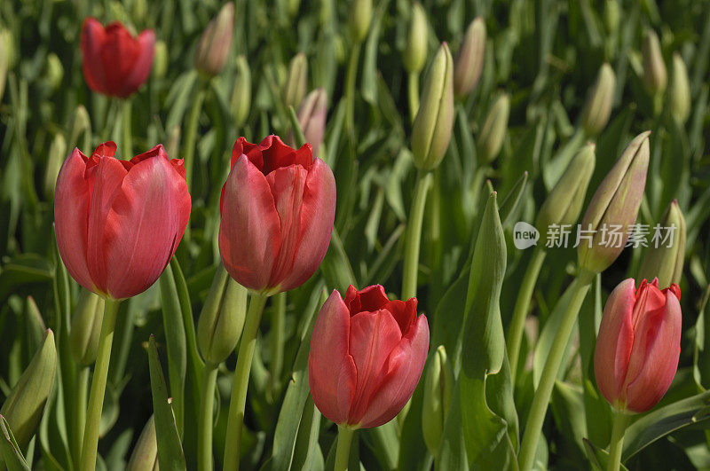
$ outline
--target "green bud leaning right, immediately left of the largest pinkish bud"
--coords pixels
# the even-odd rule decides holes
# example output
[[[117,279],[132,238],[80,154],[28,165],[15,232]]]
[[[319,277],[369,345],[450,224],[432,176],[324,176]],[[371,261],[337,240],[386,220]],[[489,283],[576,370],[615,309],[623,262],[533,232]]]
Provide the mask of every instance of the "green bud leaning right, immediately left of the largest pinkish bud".
[[[582,147],[542,203],[535,225],[543,239],[548,239],[551,225],[572,225],[580,217],[589,180],[594,173],[595,147],[592,143]]]

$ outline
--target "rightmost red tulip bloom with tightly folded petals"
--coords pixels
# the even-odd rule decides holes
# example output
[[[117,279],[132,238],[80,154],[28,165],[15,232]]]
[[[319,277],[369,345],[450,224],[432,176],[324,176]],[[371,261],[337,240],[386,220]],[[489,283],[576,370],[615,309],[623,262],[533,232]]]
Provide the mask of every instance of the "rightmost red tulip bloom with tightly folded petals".
[[[618,410],[645,412],[666,394],[681,355],[681,289],[622,281],[604,306],[594,353],[599,390]]]

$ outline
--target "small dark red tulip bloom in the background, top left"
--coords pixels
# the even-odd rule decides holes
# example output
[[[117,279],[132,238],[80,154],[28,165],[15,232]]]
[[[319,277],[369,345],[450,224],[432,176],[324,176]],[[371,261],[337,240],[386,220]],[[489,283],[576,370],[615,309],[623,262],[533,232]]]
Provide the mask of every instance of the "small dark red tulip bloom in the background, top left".
[[[104,95],[126,98],[146,82],[153,67],[155,33],[146,29],[130,35],[122,23],[103,27],[87,18],[82,27],[83,76],[89,88]]]

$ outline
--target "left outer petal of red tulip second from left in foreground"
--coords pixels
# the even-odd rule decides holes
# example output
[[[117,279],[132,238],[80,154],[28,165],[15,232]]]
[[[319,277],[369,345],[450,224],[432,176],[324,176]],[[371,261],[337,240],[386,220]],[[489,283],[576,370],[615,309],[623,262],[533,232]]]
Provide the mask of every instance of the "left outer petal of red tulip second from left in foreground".
[[[219,253],[242,286],[267,287],[280,246],[280,220],[266,177],[244,156],[222,189]]]

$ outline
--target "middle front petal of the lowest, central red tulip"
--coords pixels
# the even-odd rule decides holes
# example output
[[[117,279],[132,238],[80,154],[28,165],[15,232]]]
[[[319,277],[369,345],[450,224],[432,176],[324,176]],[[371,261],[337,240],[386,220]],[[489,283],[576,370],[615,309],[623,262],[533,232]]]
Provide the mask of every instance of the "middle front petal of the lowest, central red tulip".
[[[390,353],[402,335],[389,310],[359,312],[350,319],[350,354],[358,371],[358,381],[349,423],[358,425],[370,408],[370,400],[380,389],[389,371]]]

